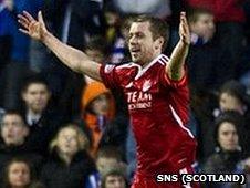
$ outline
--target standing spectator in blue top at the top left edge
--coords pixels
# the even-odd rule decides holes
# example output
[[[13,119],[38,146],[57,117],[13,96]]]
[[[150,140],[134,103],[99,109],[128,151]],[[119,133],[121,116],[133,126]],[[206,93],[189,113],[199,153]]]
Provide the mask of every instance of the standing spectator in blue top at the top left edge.
[[[24,75],[30,73],[30,39],[18,31],[19,23],[15,18],[23,10],[30,11],[31,14],[37,15],[38,10],[41,10],[43,7],[43,0],[2,0],[1,4],[4,6],[2,13],[6,12],[6,17],[2,18],[3,20],[0,22],[1,24],[8,22],[7,30],[9,30],[8,34],[10,34],[11,38],[10,62],[8,62],[8,65],[2,73],[2,83],[4,84],[4,87],[1,93],[3,93],[3,107],[17,108],[21,82],[23,81]]]

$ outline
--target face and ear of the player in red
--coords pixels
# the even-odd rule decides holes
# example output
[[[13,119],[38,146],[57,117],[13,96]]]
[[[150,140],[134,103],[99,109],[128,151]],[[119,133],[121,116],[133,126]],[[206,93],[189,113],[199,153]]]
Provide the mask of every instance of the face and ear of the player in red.
[[[132,61],[140,65],[153,61],[162,52],[163,39],[153,40],[149,22],[133,22],[128,34]]]

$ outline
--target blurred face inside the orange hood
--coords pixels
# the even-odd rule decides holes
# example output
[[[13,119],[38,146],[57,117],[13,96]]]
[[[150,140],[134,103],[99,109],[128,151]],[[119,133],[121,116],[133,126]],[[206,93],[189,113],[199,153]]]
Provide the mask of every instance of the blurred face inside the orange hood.
[[[107,94],[102,94],[91,102],[92,111],[96,115],[106,115],[110,109],[110,100]]]

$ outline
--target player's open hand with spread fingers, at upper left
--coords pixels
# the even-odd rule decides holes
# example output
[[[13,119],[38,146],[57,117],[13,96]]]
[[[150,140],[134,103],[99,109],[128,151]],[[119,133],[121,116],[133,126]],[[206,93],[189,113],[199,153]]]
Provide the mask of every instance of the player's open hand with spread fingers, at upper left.
[[[32,39],[43,41],[48,33],[41,11],[38,13],[38,21],[30,13],[23,11],[22,14],[18,14],[18,22],[22,25],[22,29],[19,30]]]

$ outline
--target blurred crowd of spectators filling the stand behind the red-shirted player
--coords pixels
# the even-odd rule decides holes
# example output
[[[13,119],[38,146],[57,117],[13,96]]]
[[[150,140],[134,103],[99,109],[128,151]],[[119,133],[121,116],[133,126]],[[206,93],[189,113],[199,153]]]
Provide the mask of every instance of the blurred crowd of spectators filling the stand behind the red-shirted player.
[[[246,174],[250,186],[249,0],[0,0],[1,188],[126,188],[136,170],[136,144],[119,91],[72,72],[19,32],[17,15],[23,10],[35,18],[42,10],[62,42],[114,64],[131,61],[126,38],[134,17],[168,22],[165,53],[170,55],[179,13],[186,11],[187,126],[198,140],[194,168]]]

